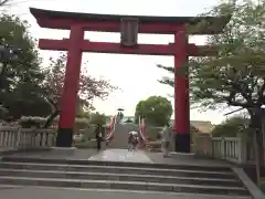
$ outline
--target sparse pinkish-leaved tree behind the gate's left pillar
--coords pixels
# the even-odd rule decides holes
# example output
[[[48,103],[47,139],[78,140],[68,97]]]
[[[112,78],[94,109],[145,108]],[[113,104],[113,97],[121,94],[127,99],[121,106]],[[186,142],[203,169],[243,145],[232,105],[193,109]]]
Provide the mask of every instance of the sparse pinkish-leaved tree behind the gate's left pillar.
[[[50,59],[50,65],[43,73],[45,80],[43,87],[45,90],[45,97],[52,107],[52,114],[44,126],[49,126],[53,118],[60,113],[61,96],[63,93],[64,76],[65,76],[66,55],[61,54],[57,59]],[[77,115],[84,115],[83,108],[93,109],[93,101],[95,98],[105,100],[110,92],[116,90],[106,80],[96,80],[86,74],[85,70],[80,77],[78,101],[76,104]],[[83,112],[83,113],[81,113]]]

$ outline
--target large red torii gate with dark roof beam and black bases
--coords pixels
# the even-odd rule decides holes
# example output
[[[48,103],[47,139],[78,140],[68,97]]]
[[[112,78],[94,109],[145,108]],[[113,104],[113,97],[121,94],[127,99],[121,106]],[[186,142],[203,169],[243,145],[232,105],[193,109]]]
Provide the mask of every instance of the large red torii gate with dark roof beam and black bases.
[[[189,76],[178,75],[177,71],[181,67],[182,63],[188,62],[189,56],[215,55],[218,51],[216,48],[189,44],[187,35],[220,33],[229,22],[230,17],[110,15],[60,12],[35,8],[30,8],[30,11],[36,19],[38,24],[42,28],[71,30],[68,39],[40,39],[39,41],[39,46],[42,50],[67,51],[64,91],[61,101],[62,112],[59,122],[56,146],[72,146],[82,52],[98,52],[174,56],[174,149],[182,153],[190,151]],[[125,24],[126,20],[127,24]],[[197,25],[203,21],[206,22],[206,25],[204,24],[193,32],[188,32],[186,30],[187,23]],[[125,32],[121,32],[121,44],[84,40],[85,31],[120,32],[120,29],[126,25],[127,28],[123,30]],[[137,44],[138,33],[174,34],[174,43]],[[126,42],[123,43],[123,40],[126,39],[129,39],[132,43],[129,45],[127,45],[128,43],[125,44]]]

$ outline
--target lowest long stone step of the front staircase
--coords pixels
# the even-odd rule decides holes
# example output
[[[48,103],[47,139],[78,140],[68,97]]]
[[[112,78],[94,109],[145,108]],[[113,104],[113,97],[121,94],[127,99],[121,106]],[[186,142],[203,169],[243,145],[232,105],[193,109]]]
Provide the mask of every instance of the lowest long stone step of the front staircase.
[[[81,180],[59,178],[26,178],[26,177],[0,177],[0,184],[46,187],[97,188],[97,189],[128,189],[152,190],[171,192],[193,192],[208,195],[247,196],[248,191],[240,187],[199,186],[183,184],[161,184],[145,181],[118,181],[118,180]]]

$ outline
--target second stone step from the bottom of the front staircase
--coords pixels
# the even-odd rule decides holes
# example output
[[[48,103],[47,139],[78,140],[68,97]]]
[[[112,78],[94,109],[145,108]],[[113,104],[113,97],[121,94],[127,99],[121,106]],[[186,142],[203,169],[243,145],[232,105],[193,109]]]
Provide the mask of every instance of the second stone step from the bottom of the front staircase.
[[[119,181],[146,181],[161,184],[205,185],[223,187],[242,187],[243,184],[235,179],[173,177],[159,175],[112,174],[112,172],[81,172],[64,170],[25,170],[0,169],[0,176],[31,177],[31,178],[63,178],[81,180],[119,180]]]

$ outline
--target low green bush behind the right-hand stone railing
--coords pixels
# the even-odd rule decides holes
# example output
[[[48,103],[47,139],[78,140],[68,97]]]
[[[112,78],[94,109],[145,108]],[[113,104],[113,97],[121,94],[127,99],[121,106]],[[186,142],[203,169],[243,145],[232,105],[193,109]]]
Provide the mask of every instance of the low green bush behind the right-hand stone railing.
[[[250,119],[235,116],[226,119],[222,124],[215,126],[212,130],[214,137],[236,137],[239,133],[247,130]]]

